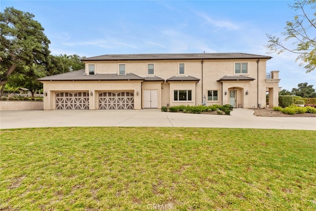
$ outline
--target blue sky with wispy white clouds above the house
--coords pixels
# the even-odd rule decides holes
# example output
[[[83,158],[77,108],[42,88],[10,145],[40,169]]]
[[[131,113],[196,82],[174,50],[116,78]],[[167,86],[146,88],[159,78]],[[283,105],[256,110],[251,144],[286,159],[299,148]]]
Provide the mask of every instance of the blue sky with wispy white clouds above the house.
[[[269,55],[267,72],[280,71],[282,88],[308,82],[296,55],[267,54],[266,34],[280,36],[295,11],[290,0],[1,0],[30,12],[51,41],[51,54],[242,52]],[[311,13],[311,10],[307,12]],[[289,42],[291,44],[291,42]],[[294,45],[293,47],[294,48]]]

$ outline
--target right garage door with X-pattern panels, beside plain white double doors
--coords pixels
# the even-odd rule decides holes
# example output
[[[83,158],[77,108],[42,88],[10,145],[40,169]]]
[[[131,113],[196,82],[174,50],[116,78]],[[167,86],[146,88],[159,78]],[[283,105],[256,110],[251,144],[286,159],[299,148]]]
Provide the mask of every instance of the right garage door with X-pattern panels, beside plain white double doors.
[[[134,93],[100,92],[99,109],[134,109]]]

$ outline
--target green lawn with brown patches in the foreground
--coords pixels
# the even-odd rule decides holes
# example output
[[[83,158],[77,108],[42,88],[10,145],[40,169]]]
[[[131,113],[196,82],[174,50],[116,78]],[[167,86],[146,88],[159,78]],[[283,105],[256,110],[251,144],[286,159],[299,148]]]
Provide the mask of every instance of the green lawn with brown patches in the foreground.
[[[316,132],[0,130],[0,210],[315,210]]]

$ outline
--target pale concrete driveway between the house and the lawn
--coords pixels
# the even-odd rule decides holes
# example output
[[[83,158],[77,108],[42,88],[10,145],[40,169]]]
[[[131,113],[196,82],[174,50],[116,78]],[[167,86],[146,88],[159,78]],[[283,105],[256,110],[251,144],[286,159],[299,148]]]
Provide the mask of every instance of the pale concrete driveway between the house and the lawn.
[[[316,118],[256,117],[234,109],[230,116],[144,110],[1,111],[0,129],[23,127],[226,127],[316,130]]]

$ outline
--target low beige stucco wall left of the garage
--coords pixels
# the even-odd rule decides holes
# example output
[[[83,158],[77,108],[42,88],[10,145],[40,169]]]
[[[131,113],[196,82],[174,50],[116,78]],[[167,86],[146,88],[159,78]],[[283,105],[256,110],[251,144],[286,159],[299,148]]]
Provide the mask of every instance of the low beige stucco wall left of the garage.
[[[0,101],[0,111],[43,110],[43,101]]]

